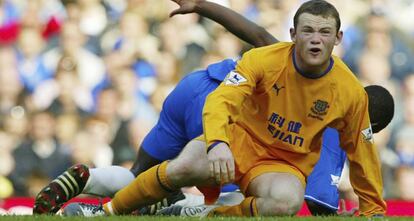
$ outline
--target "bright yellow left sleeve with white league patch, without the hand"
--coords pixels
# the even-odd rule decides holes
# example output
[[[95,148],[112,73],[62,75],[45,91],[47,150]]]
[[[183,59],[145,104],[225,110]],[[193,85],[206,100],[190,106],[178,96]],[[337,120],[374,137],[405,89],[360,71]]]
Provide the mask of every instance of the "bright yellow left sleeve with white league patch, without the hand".
[[[207,96],[203,109],[203,129],[207,144],[229,143],[228,127],[237,121],[243,102],[257,89],[263,78],[255,49],[243,54],[236,69]]]

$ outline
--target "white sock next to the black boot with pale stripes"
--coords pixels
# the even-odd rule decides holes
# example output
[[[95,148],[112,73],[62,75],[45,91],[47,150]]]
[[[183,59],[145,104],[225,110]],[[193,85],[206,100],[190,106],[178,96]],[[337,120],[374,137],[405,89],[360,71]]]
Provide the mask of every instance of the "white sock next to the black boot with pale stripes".
[[[89,172],[90,176],[82,193],[101,197],[113,197],[135,179],[134,174],[120,166],[93,168]]]

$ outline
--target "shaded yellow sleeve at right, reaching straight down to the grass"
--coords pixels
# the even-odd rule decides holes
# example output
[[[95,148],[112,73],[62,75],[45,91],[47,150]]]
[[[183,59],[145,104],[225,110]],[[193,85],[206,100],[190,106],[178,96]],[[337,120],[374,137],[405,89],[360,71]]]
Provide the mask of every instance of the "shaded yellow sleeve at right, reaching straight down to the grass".
[[[360,214],[383,215],[387,206],[382,198],[381,162],[369,123],[368,96],[361,92],[358,97],[361,99],[347,112],[341,146],[348,156],[350,180],[359,198]]]

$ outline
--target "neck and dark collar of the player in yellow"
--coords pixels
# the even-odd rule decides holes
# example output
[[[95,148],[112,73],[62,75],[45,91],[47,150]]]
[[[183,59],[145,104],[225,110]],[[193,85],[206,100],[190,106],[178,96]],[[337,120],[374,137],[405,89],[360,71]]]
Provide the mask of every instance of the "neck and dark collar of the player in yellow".
[[[312,79],[317,79],[317,78],[321,78],[325,76],[332,69],[333,64],[334,64],[333,58],[331,57],[323,65],[318,65],[318,66],[307,65],[296,54],[295,49],[293,49],[292,60],[293,60],[293,65],[295,66],[296,71],[300,75],[306,78],[312,78]]]

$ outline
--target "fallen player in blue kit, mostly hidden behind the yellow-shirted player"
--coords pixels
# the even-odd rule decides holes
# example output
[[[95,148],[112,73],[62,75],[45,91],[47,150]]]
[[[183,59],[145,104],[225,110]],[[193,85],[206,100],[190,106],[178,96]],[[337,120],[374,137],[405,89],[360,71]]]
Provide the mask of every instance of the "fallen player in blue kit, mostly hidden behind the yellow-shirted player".
[[[176,13],[197,12],[222,24],[239,38],[259,47],[276,43],[277,40],[263,28],[247,21],[237,13],[210,2],[182,0]],[[195,9],[197,5],[197,10]],[[104,168],[105,172],[88,169],[85,165],[75,165],[52,181],[37,196],[34,213],[56,213],[63,203],[80,193],[91,193],[100,196],[112,196],[123,186],[131,182],[135,176],[161,163],[173,159],[193,138],[203,133],[202,109],[207,95],[224,80],[234,69],[236,61],[227,59],[212,64],[205,70],[188,74],[170,93],[163,104],[160,119],[144,138],[138,151],[137,160],[131,168]],[[379,86],[367,87],[370,98],[371,122],[376,122],[374,131],[383,129],[392,119],[394,103],[388,91]],[[371,101],[376,102],[371,102]],[[375,106],[371,107],[371,103]],[[376,110],[371,114],[371,110]],[[378,111],[381,110],[382,112]],[[339,194],[332,177],[340,177],[345,153],[339,147],[337,131],[327,129],[323,136],[321,157],[312,174],[308,177],[305,198],[313,214],[335,214],[338,209]],[[110,174],[110,176],[108,175]],[[118,176],[121,178],[114,178]],[[133,174],[133,175],[132,175]],[[99,176],[109,176],[109,182],[97,182]],[[101,180],[104,180],[102,178]],[[116,186],[116,182],[122,180]],[[111,188],[105,188],[108,186]],[[228,191],[237,187],[227,186]],[[109,190],[108,190],[109,189]],[[178,194],[177,196],[182,196]],[[181,199],[178,197],[178,199]],[[178,200],[168,199],[170,204]],[[152,211],[154,212],[154,211]]]

